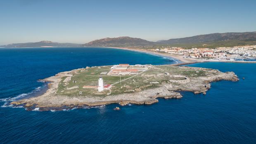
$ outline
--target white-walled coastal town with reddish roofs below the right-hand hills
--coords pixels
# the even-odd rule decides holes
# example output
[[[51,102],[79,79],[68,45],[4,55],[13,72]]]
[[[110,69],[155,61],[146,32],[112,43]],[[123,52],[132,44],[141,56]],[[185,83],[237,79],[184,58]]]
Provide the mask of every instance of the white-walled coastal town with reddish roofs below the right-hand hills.
[[[149,49],[153,52],[161,52],[183,56],[200,60],[213,61],[255,61],[256,45],[245,45],[236,47],[216,47],[216,48],[192,48],[159,46]]]

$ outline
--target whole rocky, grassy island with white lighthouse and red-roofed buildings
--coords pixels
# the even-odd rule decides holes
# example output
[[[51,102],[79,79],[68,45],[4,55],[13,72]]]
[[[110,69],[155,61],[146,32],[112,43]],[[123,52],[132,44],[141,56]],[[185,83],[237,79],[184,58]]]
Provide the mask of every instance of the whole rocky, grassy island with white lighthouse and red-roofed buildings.
[[[44,94],[11,102],[26,110],[73,109],[117,103],[154,104],[157,98],[180,99],[180,91],[203,93],[218,80],[237,81],[234,72],[173,65],[92,66],[57,73],[40,81],[48,83]]]

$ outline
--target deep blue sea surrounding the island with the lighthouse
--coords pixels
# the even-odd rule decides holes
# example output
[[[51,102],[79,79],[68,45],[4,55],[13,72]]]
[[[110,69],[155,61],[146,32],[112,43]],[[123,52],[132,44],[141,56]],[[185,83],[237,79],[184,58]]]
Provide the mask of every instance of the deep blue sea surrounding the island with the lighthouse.
[[[206,95],[152,105],[117,104],[70,111],[26,111],[8,102],[38,95],[38,79],[86,66],[172,64],[172,59],[110,48],[0,48],[0,144],[255,144],[256,64],[190,66],[234,71],[238,82],[219,81]],[[242,78],[245,78],[244,80]]]

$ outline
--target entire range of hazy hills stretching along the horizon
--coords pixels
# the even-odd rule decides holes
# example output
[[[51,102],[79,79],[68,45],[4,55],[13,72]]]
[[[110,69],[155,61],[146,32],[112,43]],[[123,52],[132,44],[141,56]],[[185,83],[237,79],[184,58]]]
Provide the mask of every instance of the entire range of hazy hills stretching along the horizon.
[[[256,32],[244,33],[211,33],[206,35],[196,35],[186,38],[173,38],[169,40],[159,40],[151,42],[141,38],[131,38],[127,36],[118,38],[103,38],[100,40],[93,40],[85,44],[74,43],[58,43],[51,41],[16,43],[9,45],[2,45],[0,47],[127,47],[127,46],[147,46],[152,47],[156,45],[173,45],[180,47],[202,46],[217,47],[217,46],[235,46],[256,44]]]

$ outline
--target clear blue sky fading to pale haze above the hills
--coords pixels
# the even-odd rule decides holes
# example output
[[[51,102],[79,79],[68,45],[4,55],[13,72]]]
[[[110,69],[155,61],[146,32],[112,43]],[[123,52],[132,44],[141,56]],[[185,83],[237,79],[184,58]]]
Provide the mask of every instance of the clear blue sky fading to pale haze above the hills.
[[[256,0],[0,0],[0,45],[256,31]]]

